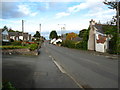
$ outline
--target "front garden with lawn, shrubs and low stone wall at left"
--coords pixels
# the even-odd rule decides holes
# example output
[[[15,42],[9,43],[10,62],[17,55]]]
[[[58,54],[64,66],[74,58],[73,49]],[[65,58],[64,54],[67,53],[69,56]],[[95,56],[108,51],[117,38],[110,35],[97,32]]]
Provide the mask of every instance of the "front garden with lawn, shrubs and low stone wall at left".
[[[19,55],[38,55],[39,48],[41,47],[42,42],[22,42],[22,41],[13,41],[7,44],[0,46],[2,54],[19,54]]]

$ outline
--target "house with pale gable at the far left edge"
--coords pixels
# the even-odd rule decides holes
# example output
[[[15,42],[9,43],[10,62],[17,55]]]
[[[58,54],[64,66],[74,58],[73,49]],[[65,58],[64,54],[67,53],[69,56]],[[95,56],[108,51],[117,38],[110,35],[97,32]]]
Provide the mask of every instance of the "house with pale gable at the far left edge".
[[[0,29],[0,42],[9,42],[9,33],[7,29]]]

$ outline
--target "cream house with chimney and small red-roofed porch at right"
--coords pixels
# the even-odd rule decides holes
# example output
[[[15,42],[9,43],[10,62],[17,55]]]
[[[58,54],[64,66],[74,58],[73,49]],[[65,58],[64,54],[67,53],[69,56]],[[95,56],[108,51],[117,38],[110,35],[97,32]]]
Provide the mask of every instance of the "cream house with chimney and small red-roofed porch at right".
[[[102,27],[102,24],[97,24],[94,20],[90,21],[88,50],[106,52],[109,49],[110,37],[104,33]]]

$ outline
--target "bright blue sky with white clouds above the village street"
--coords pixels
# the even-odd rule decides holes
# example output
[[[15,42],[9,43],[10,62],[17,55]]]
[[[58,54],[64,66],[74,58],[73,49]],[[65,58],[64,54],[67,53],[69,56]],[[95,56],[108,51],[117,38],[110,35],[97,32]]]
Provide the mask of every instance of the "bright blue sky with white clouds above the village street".
[[[7,26],[13,30],[34,34],[40,30],[48,38],[52,30],[78,33],[87,29],[91,19],[106,23],[116,12],[103,4],[104,0],[4,0],[0,2],[0,28]],[[111,0],[112,1],[112,0]]]

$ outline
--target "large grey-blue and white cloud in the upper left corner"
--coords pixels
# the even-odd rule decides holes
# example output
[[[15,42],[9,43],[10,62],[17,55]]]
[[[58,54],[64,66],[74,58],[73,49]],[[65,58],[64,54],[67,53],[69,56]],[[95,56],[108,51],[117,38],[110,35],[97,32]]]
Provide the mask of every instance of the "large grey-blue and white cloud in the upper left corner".
[[[3,19],[20,18],[25,16],[35,16],[37,12],[32,12],[29,5],[21,5],[17,2],[1,2]]]

